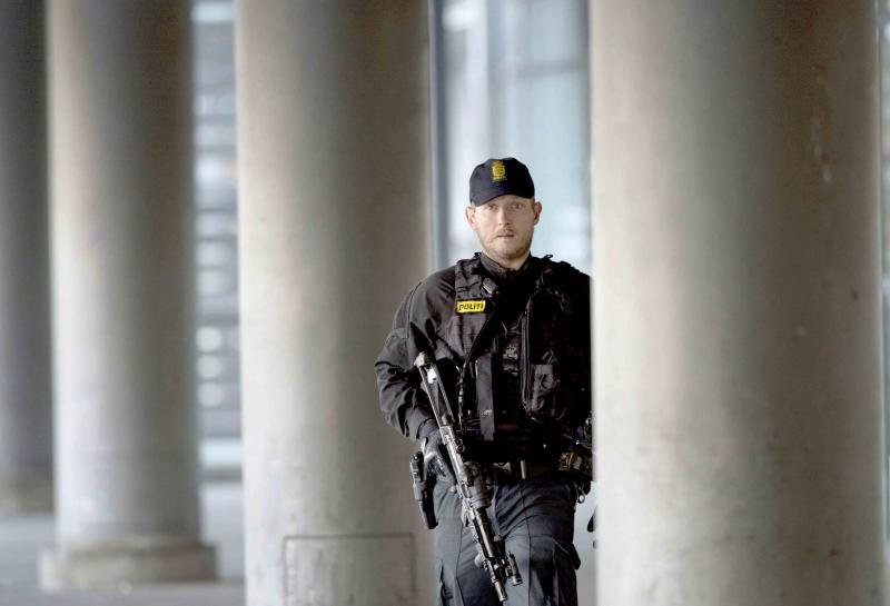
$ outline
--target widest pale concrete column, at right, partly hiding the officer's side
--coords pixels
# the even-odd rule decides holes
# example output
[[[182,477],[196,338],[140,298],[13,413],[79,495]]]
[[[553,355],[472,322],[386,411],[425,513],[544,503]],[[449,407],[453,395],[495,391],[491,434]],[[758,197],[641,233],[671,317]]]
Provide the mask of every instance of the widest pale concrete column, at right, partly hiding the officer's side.
[[[874,2],[593,27],[600,603],[882,605]]]

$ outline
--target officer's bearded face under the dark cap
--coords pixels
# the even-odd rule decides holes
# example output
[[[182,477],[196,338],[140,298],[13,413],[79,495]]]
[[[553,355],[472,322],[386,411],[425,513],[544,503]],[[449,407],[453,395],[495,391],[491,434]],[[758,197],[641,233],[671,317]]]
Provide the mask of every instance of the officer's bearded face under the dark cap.
[[[504,267],[518,269],[532,248],[541,202],[518,196],[498,196],[466,209],[466,220],[482,251]]]

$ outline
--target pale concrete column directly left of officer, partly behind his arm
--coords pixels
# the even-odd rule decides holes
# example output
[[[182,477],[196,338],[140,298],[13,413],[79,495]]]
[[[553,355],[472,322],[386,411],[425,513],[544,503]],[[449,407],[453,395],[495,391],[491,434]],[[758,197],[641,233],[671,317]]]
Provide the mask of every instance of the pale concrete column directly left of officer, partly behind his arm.
[[[433,599],[411,445],[373,371],[429,269],[424,6],[238,4],[251,606]]]

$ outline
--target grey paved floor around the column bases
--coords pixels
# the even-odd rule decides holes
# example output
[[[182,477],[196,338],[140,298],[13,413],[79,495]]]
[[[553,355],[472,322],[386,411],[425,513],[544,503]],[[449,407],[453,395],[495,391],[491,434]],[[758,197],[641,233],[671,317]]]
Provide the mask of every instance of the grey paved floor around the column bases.
[[[204,485],[205,539],[217,548],[218,583],[121,586],[117,590],[43,594],[38,588],[37,554],[53,544],[51,516],[0,518],[0,606],[244,606],[244,519],[241,485]],[[584,532],[592,503],[578,508],[575,544],[581,554],[580,604],[593,606],[595,562]]]

